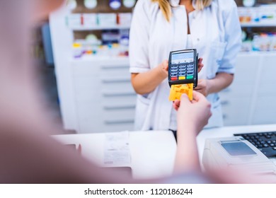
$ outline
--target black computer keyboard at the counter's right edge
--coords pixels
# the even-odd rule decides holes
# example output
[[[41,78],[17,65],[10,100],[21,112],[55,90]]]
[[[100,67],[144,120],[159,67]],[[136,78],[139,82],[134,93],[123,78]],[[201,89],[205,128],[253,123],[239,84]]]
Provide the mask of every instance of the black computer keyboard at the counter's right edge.
[[[276,132],[258,132],[251,134],[234,134],[242,136],[257,147],[268,158],[276,157]]]

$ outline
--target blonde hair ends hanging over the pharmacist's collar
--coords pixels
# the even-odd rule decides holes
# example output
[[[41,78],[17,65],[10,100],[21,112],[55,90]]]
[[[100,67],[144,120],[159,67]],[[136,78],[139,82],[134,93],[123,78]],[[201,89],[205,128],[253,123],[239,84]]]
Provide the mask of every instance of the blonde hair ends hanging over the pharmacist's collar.
[[[152,2],[157,2],[159,4],[159,8],[163,13],[163,16],[167,21],[171,19],[171,4],[169,0],[151,0]],[[197,10],[203,10],[207,6],[211,5],[212,0],[195,0],[195,6]]]

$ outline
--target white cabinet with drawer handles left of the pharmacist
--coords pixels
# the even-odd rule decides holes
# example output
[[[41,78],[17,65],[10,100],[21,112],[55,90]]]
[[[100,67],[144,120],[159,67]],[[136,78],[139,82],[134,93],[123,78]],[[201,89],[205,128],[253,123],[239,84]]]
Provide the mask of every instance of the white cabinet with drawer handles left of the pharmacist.
[[[136,93],[127,58],[71,62],[77,132],[132,130]]]

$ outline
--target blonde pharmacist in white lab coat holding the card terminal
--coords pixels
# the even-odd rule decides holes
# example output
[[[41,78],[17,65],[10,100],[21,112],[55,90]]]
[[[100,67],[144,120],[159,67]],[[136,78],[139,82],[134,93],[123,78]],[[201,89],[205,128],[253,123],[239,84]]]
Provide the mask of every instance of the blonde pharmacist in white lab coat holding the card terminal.
[[[222,126],[218,92],[233,81],[240,45],[234,0],[137,1],[130,28],[130,72],[138,93],[135,129],[176,130],[176,111],[168,100],[168,62],[163,61],[171,51],[190,48],[203,58],[196,90],[212,104],[206,127]]]

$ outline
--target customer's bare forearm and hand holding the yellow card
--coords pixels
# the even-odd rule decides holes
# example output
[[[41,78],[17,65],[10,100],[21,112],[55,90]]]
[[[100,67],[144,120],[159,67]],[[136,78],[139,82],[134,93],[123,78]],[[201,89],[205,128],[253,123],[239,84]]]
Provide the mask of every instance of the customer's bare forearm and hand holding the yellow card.
[[[173,103],[173,107],[178,110],[178,144],[174,168],[176,173],[200,170],[196,136],[208,123],[211,105],[204,95],[196,91],[193,91],[193,98],[190,101],[188,96],[183,94],[180,101]]]

